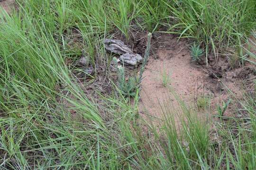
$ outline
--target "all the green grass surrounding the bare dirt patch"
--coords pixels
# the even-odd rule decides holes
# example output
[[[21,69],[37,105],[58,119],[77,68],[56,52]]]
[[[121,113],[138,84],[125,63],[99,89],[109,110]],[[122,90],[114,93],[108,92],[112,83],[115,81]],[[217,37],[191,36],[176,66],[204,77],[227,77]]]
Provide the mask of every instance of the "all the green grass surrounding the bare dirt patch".
[[[170,32],[205,43],[206,51],[240,48],[255,27],[253,1],[18,0],[17,4],[18,11],[0,14],[1,169],[254,169],[253,96],[245,94],[235,110],[243,119],[216,124],[216,140],[210,124],[197,119],[196,110],[182,101],[180,110],[173,110],[168,101],[161,103],[163,127],[145,122],[145,131],[137,123],[138,93],[135,104],[118,93],[89,99],[67,64],[85,51],[96,78],[97,68],[108,70],[111,59],[102,40],[115,31],[128,38],[135,25],[150,32],[168,26]],[[70,45],[69,35],[74,33],[82,38]],[[184,115],[179,129],[173,114]]]

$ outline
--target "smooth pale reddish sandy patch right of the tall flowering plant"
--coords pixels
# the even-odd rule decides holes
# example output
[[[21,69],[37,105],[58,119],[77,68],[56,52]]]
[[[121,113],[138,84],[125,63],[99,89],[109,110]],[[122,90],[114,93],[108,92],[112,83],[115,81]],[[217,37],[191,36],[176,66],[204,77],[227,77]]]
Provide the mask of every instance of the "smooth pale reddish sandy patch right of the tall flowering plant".
[[[172,37],[168,35],[159,38],[166,38],[167,42],[163,42],[163,45],[160,45],[160,48],[155,51],[157,59],[151,56],[148,61],[141,85],[140,109],[161,118],[160,103],[173,102],[174,106],[178,105],[171,93],[172,90],[184,102],[191,102],[196,86],[203,82],[206,74],[200,68],[191,65],[189,49],[184,40],[177,42],[177,39],[173,39],[170,42]],[[170,80],[166,87],[163,85],[163,74],[169,76]],[[202,93],[202,91],[203,88],[200,87],[198,93]]]

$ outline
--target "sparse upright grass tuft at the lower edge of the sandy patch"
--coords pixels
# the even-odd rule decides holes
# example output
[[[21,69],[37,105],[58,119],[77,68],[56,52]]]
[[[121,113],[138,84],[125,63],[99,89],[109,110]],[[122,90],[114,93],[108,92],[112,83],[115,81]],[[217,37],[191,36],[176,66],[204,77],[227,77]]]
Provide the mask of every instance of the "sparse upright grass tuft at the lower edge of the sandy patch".
[[[174,109],[169,101],[160,104],[164,114],[162,130],[167,142],[160,138],[156,140],[159,140],[170,164],[177,162],[176,166],[183,170],[207,167],[209,165],[204,157],[210,149],[210,126],[205,124],[194,110],[189,109],[177,94],[174,95],[179,107]],[[198,162],[195,163],[194,160]],[[164,163],[163,159],[160,163]]]

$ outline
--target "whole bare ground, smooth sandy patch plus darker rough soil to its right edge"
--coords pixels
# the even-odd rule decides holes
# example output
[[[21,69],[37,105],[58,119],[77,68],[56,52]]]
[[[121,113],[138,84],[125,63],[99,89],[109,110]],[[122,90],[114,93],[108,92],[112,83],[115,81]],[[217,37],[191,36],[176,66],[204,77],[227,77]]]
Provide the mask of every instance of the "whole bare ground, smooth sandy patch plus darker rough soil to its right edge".
[[[153,41],[155,55],[152,55],[144,72],[142,81],[142,92],[140,102],[141,115],[146,118],[150,116],[153,121],[158,122],[163,118],[160,103],[171,102],[175,109],[179,109],[179,103],[174,97],[176,93],[188,106],[196,106],[197,100],[210,96],[210,113],[216,113],[216,105],[227,102],[229,99],[242,96],[242,86],[246,80],[255,76],[255,68],[246,65],[244,68],[231,69],[227,58],[219,57],[216,64],[213,55],[209,56],[206,67],[203,61],[201,64],[191,61],[189,42],[186,40],[177,41],[170,34],[159,34]],[[155,57],[156,56],[156,57]],[[205,58],[205,56],[203,57]],[[163,74],[170,77],[168,85],[163,85]],[[254,89],[254,87],[251,87]],[[224,116],[232,115],[234,108],[231,106]],[[197,110],[199,117],[205,117],[207,110]],[[159,119],[157,119],[159,118]],[[177,118],[178,119],[178,118]],[[177,120],[178,121],[178,120]]]

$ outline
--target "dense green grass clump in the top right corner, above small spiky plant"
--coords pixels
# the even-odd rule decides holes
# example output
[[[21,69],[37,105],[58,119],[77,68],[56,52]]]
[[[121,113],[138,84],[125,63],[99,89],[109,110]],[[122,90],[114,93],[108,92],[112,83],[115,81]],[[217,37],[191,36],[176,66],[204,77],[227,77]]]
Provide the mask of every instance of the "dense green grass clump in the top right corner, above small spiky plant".
[[[176,21],[167,32],[203,43],[206,54],[217,55],[228,47],[241,46],[256,26],[253,0],[181,0],[165,4]]]

